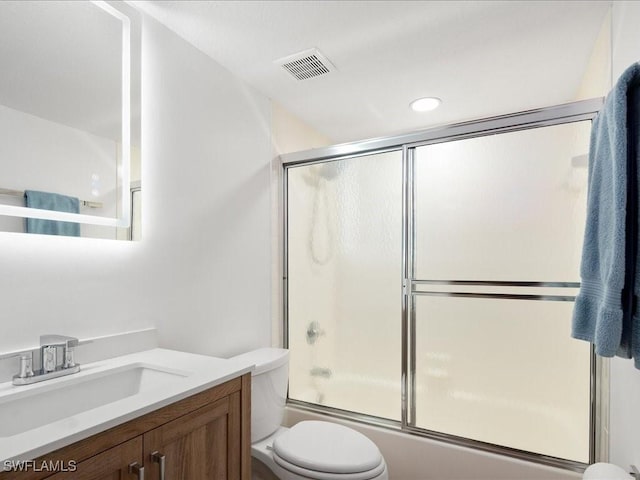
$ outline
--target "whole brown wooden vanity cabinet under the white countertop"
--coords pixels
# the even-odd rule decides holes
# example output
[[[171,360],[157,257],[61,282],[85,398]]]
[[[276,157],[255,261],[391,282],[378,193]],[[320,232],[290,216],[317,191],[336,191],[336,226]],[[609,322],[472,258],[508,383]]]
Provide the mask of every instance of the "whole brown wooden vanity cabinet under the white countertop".
[[[1,480],[249,480],[251,374],[44,455]],[[41,466],[58,465],[53,473]],[[39,471],[38,471],[39,470]]]

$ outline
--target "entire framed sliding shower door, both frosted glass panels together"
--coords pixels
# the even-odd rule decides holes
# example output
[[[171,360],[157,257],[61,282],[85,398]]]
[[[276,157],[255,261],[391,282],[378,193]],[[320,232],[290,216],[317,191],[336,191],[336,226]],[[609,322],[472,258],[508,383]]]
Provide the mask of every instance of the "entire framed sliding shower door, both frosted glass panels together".
[[[593,355],[570,322],[595,103],[286,164],[290,400],[593,461]]]

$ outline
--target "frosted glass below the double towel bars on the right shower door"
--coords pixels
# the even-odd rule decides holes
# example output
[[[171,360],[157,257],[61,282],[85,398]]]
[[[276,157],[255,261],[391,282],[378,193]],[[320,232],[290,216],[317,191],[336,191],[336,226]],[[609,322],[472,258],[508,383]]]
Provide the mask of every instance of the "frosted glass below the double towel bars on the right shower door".
[[[416,425],[589,461],[589,345],[570,302],[419,296]]]

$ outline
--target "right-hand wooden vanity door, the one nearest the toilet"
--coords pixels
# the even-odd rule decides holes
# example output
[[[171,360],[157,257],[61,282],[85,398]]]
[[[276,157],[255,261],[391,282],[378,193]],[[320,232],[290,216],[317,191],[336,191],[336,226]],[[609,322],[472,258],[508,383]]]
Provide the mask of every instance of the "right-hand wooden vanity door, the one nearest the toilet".
[[[146,433],[146,480],[240,480],[240,429],[236,392]],[[164,457],[164,479],[158,456]]]

